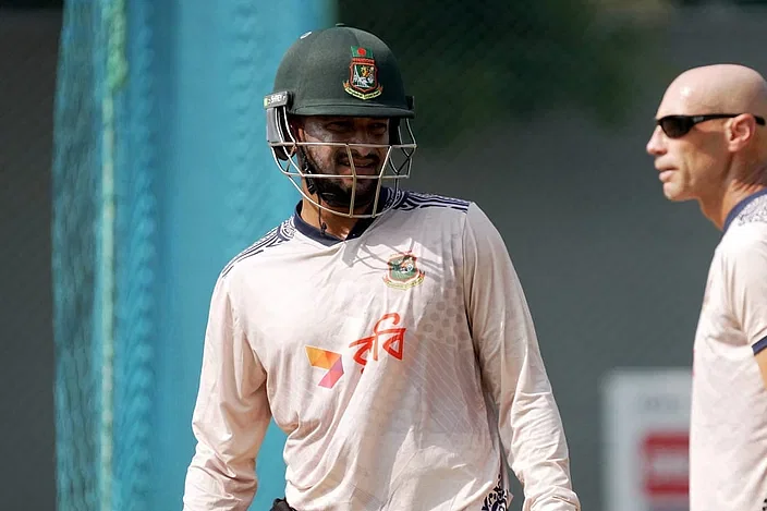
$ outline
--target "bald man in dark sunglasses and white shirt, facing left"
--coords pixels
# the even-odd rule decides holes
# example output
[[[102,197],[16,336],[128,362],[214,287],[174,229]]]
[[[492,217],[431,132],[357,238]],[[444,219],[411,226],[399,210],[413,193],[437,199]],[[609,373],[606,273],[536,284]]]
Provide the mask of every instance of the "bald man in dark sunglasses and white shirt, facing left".
[[[690,510],[767,510],[767,83],[695,68],[666,90],[647,144],[663,194],[722,236],[694,343]]]

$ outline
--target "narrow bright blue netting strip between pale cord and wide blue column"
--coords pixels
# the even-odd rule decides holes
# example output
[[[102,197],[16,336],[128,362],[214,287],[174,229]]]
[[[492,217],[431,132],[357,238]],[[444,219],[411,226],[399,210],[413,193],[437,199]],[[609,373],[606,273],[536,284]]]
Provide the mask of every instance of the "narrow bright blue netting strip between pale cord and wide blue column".
[[[124,0],[119,0],[123,4]],[[124,9],[120,10],[125,13]],[[157,338],[157,203],[155,191],[155,94],[150,2],[135,2],[126,20],[130,45],[115,45],[130,62],[129,87],[117,97],[118,169],[117,332],[113,503],[119,511],[150,510],[153,339]],[[121,22],[122,23],[122,22]],[[123,25],[124,26],[124,25]],[[119,32],[119,31],[117,31]]]

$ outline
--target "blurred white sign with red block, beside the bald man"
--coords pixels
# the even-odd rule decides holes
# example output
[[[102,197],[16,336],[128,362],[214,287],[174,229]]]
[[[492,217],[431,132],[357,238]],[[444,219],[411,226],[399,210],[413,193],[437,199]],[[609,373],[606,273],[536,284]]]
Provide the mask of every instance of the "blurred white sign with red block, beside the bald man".
[[[687,511],[689,369],[617,369],[602,380],[606,511]]]

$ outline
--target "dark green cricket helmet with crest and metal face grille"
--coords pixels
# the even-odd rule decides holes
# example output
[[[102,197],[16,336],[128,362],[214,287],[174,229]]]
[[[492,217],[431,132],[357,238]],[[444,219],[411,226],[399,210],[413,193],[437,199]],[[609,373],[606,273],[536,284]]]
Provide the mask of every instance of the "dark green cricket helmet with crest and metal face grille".
[[[290,178],[301,194],[324,210],[353,218],[384,212],[378,199],[384,185],[397,190],[410,177],[416,148],[410,125],[414,117],[413,97],[405,95],[399,65],[389,47],[377,36],[349,26],[308,32],[285,52],[277,70],[273,92],[264,98],[267,142],[280,171]],[[292,133],[291,115],[332,115],[389,119],[389,144],[306,143]],[[299,158],[305,146],[325,145],[345,148],[352,168],[353,186],[349,210],[339,212],[321,203],[333,204],[325,193],[325,180],[337,174],[320,173]],[[357,174],[352,151],[355,147],[385,149],[386,158],[375,175]],[[373,209],[355,214],[357,180],[375,179]],[[301,186],[306,180],[309,195]],[[318,200],[311,195],[318,197]],[[343,204],[345,209],[346,204]]]

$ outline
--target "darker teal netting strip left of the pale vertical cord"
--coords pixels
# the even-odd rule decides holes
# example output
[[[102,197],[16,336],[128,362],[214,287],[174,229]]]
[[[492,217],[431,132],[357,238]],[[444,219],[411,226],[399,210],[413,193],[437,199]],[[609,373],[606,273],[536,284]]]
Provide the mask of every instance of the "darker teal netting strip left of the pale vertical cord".
[[[64,10],[54,111],[53,320],[58,509],[98,502],[100,352],[97,261],[100,246],[98,98],[100,7]]]

